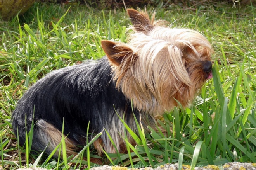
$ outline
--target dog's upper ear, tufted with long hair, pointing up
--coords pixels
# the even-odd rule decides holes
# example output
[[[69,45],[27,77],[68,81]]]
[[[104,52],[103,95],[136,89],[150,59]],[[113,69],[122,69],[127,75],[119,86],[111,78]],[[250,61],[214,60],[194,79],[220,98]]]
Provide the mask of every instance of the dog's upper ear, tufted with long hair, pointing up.
[[[148,34],[154,28],[155,12],[153,12],[151,20],[147,12],[134,9],[127,9],[127,12],[136,32]]]

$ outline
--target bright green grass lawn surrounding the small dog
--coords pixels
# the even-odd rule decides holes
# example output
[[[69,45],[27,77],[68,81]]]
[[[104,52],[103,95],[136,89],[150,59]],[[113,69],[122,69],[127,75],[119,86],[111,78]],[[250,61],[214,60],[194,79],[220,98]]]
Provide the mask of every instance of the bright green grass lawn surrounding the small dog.
[[[106,153],[103,160],[110,159],[110,165],[134,168],[165,163],[193,168],[232,161],[256,162],[255,7],[220,4],[188,10],[172,5],[156,11],[157,19],[164,18],[174,27],[195,29],[207,37],[215,51],[213,79],[206,82],[189,107],[175,108],[164,115],[164,123],[159,124],[167,129],[167,134],[150,127],[150,134],[143,129],[135,134],[126,126],[139,145],[127,142],[128,154]],[[92,141],[87,141],[78,156],[64,156],[64,160],[31,152],[30,138],[27,148],[16,145],[10,117],[17,100],[30,85],[51,70],[104,56],[100,41],[125,42],[128,24],[124,9],[42,3],[36,3],[24,17],[0,21],[0,166],[67,169],[73,162],[72,165],[85,168],[88,163],[81,159],[82,155],[97,157]],[[126,140],[127,136],[123,138]],[[65,148],[63,144],[59,147]]]

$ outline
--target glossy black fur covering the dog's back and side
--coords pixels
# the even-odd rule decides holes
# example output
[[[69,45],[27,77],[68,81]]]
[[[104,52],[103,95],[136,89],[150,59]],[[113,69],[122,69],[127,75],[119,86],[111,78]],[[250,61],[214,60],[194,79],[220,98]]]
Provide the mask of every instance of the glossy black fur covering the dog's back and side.
[[[52,71],[40,79],[17,103],[12,114],[12,127],[16,136],[18,128],[20,144],[24,144],[25,115],[29,131],[34,114],[32,149],[43,150],[45,144],[37,136],[36,122],[43,120],[62,131],[64,119],[64,134],[84,145],[88,122],[89,132],[99,133],[107,126],[113,126],[110,124],[112,119],[118,121],[115,109],[125,112],[125,117],[133,117],[131,102],[121,90],[116,89],[111,66],[105,56],[99,61],[86,61]],[[138,117],[139,112],[134,110]],[[49,154],[50,150],[47,152]]]

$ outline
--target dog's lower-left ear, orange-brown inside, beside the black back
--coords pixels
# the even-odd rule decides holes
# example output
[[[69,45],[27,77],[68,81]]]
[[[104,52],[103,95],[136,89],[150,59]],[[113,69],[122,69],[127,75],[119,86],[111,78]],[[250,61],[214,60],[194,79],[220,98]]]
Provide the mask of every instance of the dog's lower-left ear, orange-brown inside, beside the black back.
[[[101,45],[109,61],[116,66],[121,65],[121,63],[124,63],[125,61],[127,62],[127,58],[137,56],[136,54],[133,54],[131,48],[122,42],[102,40]]]

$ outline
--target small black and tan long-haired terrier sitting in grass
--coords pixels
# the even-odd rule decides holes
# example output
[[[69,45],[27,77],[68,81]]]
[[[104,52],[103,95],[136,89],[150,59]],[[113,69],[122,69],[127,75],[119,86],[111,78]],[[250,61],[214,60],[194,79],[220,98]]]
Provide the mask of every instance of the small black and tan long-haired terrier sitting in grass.
[[[178,102],[187,106],[212,77],[212,48],[202,34],[154,21],[155,12],[150,19],[141,10],[127,11],[133,24],[127,44],[104,40],[103,58],[52,71],[27,90],[12,114],[20,144],[25,143],[26,117],[27,131],[35,123],[32,149],[44,150],[50,143],[50,154],[61,142],[64,120],[67,154],[75,154],[76,145],[86,143],[90,121],[90,133],[106,129],[118,151],[125,152],[125,128],[117,114],[135,132],[133,114],[145,129],[155,126],[156,117]],[[94,146],[99,155],[102,148],[116,153],[105,131]]]

